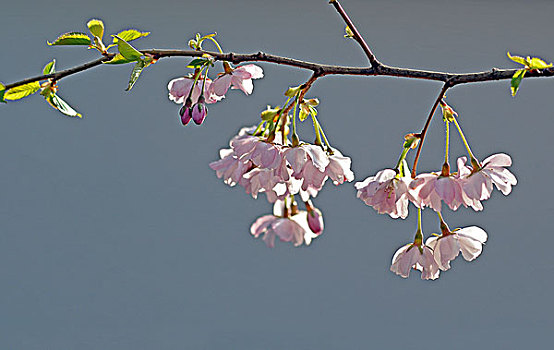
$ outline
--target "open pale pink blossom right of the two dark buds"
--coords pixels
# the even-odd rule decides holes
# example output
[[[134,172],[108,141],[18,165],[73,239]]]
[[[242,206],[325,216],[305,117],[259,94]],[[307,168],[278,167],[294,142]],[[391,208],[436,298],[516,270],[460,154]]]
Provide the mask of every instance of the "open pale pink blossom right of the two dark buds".
[[[264,76],[262,68],[254,64],[247,64],[235,69],[230,68],[230,70],[231,72],[224,73],[214,80],[210,86],[210,93],[216,96],[224,96],[231,87],[232,89],[240,89],[245,94],[250,95],[254,89],[252,79],[260,79]]]

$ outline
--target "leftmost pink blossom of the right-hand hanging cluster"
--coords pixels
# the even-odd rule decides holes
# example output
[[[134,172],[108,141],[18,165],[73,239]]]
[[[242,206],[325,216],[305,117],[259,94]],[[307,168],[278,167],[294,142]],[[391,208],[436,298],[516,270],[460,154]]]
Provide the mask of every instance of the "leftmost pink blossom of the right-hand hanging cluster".
[[[354,186],[357,196],[379,214],[405,219],[408,216],[409,177],[399,177],[396,171],[384,169]]]

